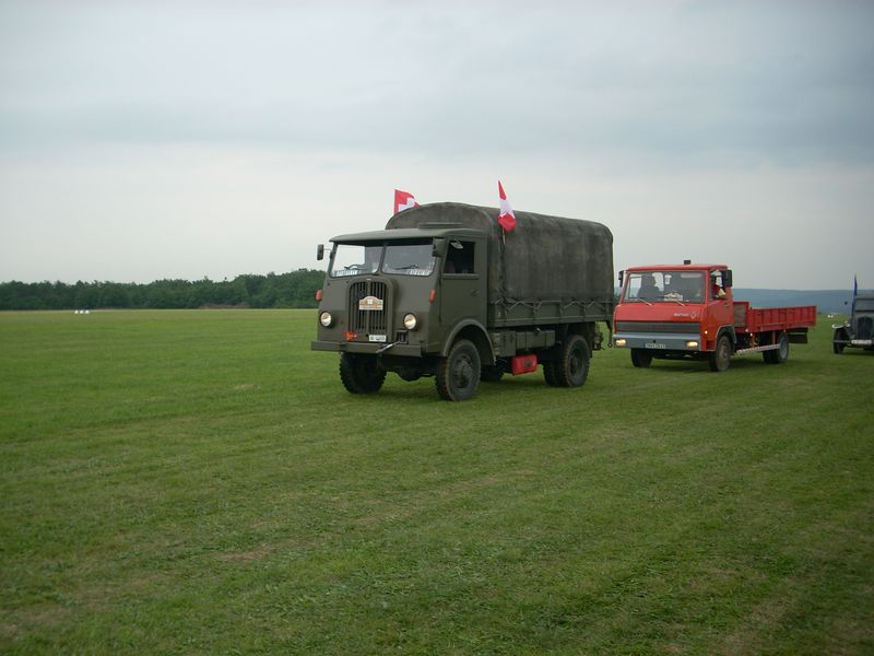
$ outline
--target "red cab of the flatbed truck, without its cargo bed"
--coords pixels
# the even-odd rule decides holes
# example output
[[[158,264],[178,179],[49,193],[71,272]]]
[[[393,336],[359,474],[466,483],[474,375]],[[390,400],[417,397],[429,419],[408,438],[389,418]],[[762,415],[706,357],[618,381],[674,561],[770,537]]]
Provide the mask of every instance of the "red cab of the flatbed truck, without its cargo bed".
[[[723,336],[733,349],[732,271],[725,265],[633,267],[621,273],[621,286],[613,345],[630,349],[635,366],[649,366],[653,358],[709,358]]]

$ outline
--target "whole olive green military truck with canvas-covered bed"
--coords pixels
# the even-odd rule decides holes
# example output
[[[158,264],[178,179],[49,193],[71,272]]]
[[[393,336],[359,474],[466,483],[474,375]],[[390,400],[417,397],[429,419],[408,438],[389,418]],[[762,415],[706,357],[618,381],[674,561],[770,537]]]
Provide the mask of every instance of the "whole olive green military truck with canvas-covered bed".
[[[598,325],[612,319],[613,235],[591,221],[515,214],[505,234],[496,208],[423,204],[385,230],[333,237],[311,348],[340,352],[352,394],[378,391],[388,372],[434,376],[450,401],[539,366],[551,386],[583,385]]]

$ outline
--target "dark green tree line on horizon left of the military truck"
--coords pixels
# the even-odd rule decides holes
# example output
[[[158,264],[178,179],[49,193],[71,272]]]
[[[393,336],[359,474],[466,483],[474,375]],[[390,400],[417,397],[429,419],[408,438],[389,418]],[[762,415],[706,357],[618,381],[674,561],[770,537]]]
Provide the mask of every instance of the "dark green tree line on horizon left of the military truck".
[[[0,309],[181,309],[210,306],[316,307],[324,271],[247,273],[234,280],[0,282]]]

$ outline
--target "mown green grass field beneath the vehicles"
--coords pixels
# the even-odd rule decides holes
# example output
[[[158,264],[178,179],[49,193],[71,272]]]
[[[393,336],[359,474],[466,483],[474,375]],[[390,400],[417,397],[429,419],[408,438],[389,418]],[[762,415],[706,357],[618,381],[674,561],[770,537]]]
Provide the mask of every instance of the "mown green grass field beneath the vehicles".
[[[874,653],[874,354],[349,395],[312,311],[0,314],[0,652]]]

